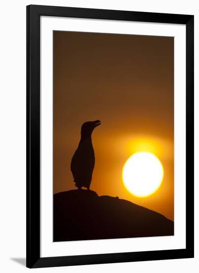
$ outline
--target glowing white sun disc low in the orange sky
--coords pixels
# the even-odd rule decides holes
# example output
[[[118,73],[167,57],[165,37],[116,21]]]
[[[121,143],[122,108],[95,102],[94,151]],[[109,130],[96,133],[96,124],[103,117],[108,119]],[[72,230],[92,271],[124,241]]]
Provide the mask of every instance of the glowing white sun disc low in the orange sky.
[[[134,153],[126,161],[122,171],[125,187],[138,197],[154,193],[160,187],[163,175],[160,160],[150,152]]]

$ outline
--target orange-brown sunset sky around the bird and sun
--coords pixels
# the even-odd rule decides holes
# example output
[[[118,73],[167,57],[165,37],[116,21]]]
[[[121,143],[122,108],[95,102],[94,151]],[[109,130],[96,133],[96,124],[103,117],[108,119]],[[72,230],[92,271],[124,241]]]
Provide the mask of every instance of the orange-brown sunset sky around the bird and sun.
[[[96,164],[91,190],[118,196],[173,220],[174,39],[53,32],[53,189],[76,189],[71,158],[81,125],[100,120],[92,135]],[[132,153],[153,152],[164,178],[138,198],[122,182]]]

